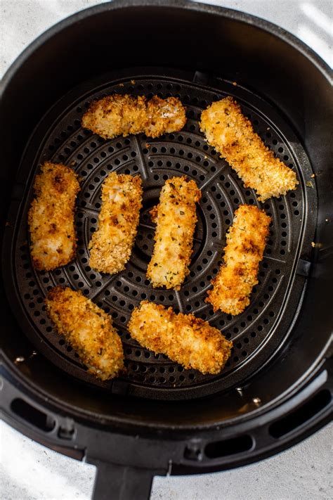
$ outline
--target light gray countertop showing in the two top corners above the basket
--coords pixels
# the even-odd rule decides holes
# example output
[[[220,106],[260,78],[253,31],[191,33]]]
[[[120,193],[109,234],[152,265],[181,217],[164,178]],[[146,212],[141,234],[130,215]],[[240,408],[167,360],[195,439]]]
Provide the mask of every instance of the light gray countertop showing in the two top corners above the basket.
[[[74,12],[108,0],[1,0],[0,75],[27,44]],[[202,0],[284,27],[332,66],[332,0]]]

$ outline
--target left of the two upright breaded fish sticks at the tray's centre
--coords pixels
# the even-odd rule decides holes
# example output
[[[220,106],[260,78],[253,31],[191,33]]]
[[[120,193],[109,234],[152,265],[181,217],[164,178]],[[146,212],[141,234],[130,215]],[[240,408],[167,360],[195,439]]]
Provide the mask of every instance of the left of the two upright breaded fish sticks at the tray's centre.
[[[114,274],[125,268],[131,257],[142,206],[140,176],[112,172],[102,186],[102,207],[98,229],[89,243],[89,265]]]

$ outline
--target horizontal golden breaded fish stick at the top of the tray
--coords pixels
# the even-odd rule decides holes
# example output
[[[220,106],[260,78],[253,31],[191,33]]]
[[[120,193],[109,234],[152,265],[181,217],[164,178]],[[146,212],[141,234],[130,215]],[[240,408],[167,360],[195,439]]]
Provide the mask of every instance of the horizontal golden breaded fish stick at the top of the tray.
[[[145,96],[129,94],[113,94],[94,101],[81,120],[82,127],[105,139],[141,132],[159,137],[181,130],[185,122],[185,108],[178,98],[153,96],[147,101]]]

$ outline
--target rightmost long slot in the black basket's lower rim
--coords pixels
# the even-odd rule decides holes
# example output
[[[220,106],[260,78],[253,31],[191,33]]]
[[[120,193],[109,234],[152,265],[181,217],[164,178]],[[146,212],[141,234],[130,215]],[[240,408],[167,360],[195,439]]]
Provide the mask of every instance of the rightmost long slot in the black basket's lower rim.
[[[279,437],[292,432],[292,430],[300,427],[303,423],[306,423],[322,411],[322,409],[324,409],[325,406],[331,402],[331,400],[332,398],[329,390],[325,389],[318,392],[318,394],[303,404],[303,406],[296,409],[296,411],[293,411],[291,414],[281,418],[278,422],[270,425],[270,435],[278,439]]]

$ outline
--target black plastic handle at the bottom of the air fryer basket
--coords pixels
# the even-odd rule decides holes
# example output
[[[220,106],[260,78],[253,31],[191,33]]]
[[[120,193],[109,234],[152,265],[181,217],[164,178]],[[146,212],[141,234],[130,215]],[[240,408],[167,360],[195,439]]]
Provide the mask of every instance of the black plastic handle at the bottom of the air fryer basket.
[[[93,500],[149,500],[152,470],[96,462]]]

